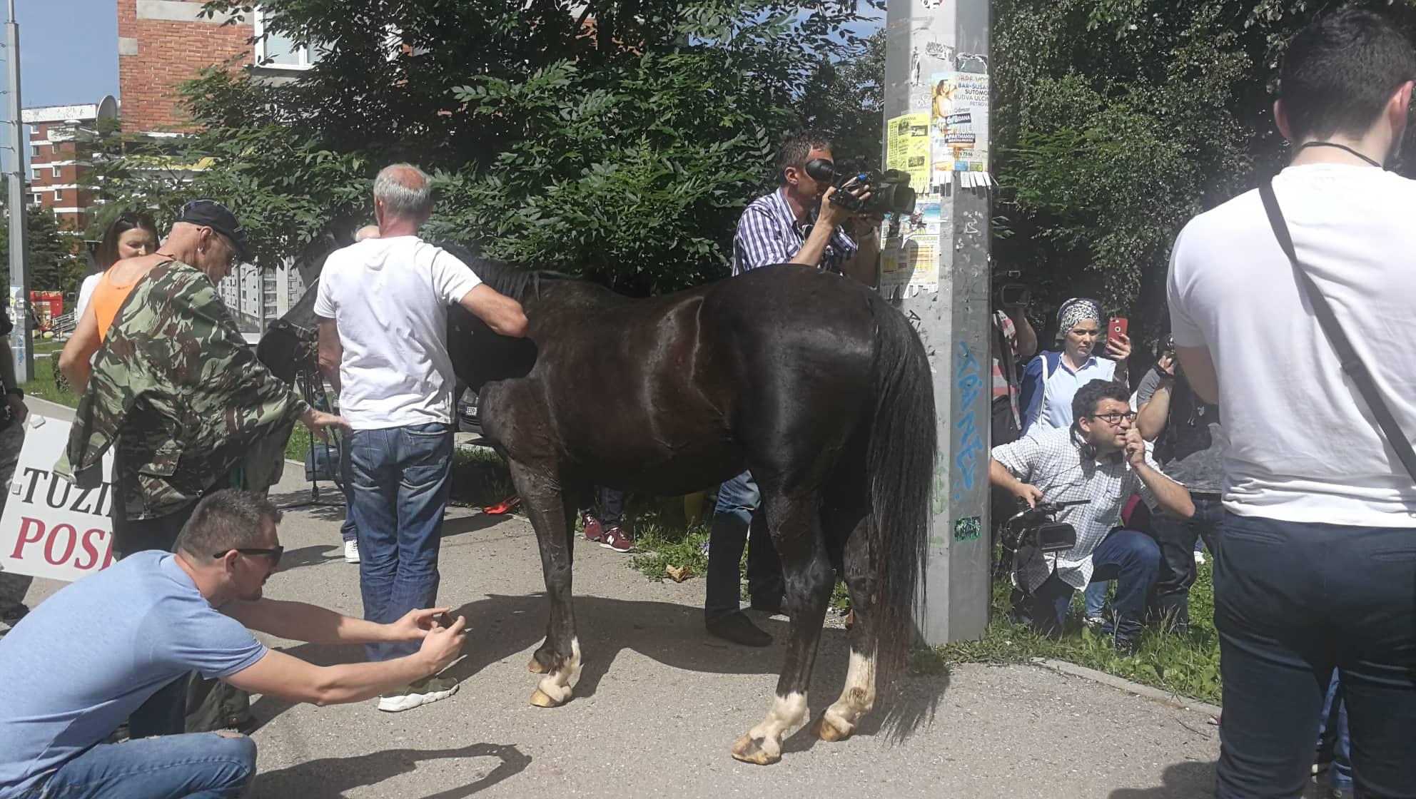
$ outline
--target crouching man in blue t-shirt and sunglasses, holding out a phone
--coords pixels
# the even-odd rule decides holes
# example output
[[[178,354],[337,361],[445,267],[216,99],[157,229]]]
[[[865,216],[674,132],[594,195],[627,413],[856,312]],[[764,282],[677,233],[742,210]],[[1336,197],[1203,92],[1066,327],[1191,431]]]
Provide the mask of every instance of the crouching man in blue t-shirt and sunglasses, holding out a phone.
[[[0,799],[178,799],[241,796],[256,745],[235,733],[103,742],[135,711],[160,706],[169,684],[198,670],[266,696],[358,701],[445,669],[463,621],[445,608],[392,624],[341,617],[261,595],[283,547],[280,512],[253,494],[218,491],[197,506],[177,553],[143,552],[45,600],[0,638]],[[313,643],[421,641],[379,663],[314,666],[266,649],[246,629]],[[139,728],[137,717],[130,728]]]

